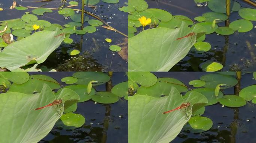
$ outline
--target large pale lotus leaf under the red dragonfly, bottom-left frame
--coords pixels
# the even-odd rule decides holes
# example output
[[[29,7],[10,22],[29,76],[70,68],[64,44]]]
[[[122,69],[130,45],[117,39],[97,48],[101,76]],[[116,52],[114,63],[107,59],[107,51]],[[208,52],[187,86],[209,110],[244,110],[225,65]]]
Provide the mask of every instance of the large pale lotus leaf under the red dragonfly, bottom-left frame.
[[[41,93],[27,95],[7,92],[0,96],[0,142],[1,143],[37,143],[45,137],[60,118],[56,108],[34,109],[61,99],[64,108],[78,101],[79,96],[70,89],[54,95],[48,85],[44,85]],[[68,102],[72,101],[72,102]],[[72,103],[72,104],[67,104]],[[57,105],[55,105],[57,107]],[[63,106],[58,106],[59,114],[63,114]]]

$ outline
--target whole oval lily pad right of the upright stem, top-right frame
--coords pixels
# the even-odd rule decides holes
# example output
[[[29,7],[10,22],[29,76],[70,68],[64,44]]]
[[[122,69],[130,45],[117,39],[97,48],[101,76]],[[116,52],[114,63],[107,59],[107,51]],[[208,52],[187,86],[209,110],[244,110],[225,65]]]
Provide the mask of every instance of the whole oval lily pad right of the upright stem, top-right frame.
[[[253,29],[253,24],[246,19],[238,19],[229,24],[229,28],[238,32],[248,32]]]

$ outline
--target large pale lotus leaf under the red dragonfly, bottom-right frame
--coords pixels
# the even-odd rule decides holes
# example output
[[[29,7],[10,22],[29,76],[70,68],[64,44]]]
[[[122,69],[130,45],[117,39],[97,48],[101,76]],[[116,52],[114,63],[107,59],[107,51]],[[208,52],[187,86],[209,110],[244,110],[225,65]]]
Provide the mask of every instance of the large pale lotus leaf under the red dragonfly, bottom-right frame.
[[[190,102],[195,112],[195,109],[207,103],[207,99],[198,92],[193,92],[187,99],[182,99],[179,91],[174,87],[166,97],[136,95],[129,96],[128,101],[128,143],[171,142],[188,122],[192,108],[188,108],[186,114],[180,110],[168,114],[162,113],[177,108],[185,102]]]

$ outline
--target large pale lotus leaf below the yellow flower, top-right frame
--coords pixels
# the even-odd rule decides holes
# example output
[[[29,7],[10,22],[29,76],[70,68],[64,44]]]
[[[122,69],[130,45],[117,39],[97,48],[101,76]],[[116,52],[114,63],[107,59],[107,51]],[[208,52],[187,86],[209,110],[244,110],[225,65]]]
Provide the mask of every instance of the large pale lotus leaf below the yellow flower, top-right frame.
[[[200,32],[201,26],[192,30],[186,23],[177,29],[153,28],[129,38],[129,71],[168,71],[188,54],[196,42],[196,34],[187,38],[192,31]]]

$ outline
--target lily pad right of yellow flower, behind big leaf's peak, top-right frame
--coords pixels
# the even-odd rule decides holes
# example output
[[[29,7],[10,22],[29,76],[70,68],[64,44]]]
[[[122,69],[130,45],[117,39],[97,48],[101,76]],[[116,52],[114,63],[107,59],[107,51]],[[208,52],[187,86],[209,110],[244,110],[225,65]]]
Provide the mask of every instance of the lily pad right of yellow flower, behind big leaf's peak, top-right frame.
[[[183,16],[183,15],[175,15],[173,16],[173,18],[168,21],[168,22],[164,22],[164,21],[161,21],[159,23],[159,27],[166,27],[166,28],[180,28],[181,25],[182,25],[182,22],[185,22],[187,25],[193,25],[193,21],[186,17],[186,16]]]

